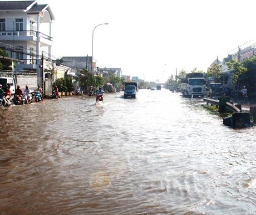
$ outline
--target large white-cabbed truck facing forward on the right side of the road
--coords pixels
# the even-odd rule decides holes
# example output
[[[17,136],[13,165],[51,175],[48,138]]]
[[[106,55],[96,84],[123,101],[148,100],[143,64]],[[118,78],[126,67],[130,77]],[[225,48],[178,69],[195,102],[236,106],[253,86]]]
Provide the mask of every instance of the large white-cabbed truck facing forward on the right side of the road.
[[[183,97],[205,95],[205,79],[203,73],[188,73],[181,75],[181,90]]]

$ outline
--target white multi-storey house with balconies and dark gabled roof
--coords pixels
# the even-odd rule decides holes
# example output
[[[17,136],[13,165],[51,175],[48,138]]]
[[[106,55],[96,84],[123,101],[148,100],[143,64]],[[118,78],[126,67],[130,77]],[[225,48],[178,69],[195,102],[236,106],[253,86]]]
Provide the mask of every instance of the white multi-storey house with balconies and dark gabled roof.
[[[16,71],[36,71],[42,78],[42,63],[51,62],[53,20],[48,4],[0,1],[0,49],[8,52],[9,57],[24,60],[24,64],[16,62]],[[46,62],[42,62],[42,57]]]

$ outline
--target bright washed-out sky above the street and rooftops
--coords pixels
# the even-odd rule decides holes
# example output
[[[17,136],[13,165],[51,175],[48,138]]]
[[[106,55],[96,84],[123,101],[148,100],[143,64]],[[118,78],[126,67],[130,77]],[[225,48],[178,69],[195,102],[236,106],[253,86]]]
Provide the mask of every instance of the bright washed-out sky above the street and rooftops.
[[[91,56],[100,68],[164,81],[175,70],[206,72],[239,45],[256,43],[255,1],[38,0],[50,4],[52,55]],[[250,41],[250,42],[249,42]]]

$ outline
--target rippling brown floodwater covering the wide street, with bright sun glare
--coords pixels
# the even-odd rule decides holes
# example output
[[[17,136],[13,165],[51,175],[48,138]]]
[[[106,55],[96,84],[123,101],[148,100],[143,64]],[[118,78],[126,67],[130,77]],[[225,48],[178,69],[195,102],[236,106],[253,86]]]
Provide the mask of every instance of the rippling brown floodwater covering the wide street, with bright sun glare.
[[[255,214],[255,127],[169,90],[1,111],[1,214]]]

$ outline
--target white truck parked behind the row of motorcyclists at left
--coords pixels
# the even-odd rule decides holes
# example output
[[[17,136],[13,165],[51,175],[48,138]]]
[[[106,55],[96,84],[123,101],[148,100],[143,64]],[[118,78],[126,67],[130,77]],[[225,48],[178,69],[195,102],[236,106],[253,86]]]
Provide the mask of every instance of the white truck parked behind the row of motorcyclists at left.
[[[34,90],[37,88],[38,78],[37,73],[32,71],[16,72],[0,70],[0,84],[3,88],[6,85],[11,86],[10,90],[12,94],[15,94],[17,86],[21,86],[22,91],[29,86],[29,89]]]

